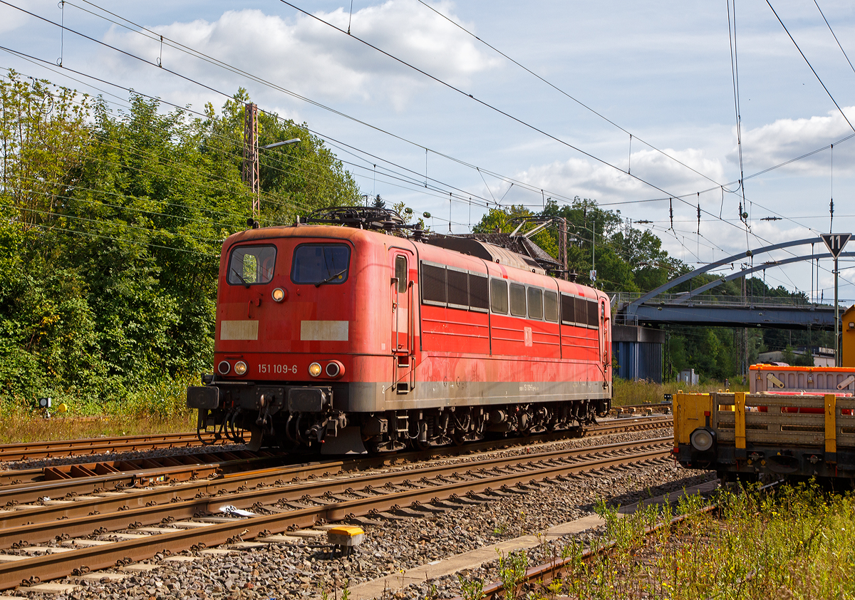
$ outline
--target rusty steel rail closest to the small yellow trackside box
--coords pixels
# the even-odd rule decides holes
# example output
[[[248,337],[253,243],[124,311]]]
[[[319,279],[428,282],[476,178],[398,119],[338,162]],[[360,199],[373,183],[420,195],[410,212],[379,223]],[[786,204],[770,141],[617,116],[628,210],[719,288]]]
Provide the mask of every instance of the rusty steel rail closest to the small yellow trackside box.
[[[640,443],[635,443],[641,446]],[[649,448],[650,442],[646,447]],[[322,521],[340,521],[346,517],[374,514],[376,511],[395,509],[401,504],[410,504],[417,507],[422,502],[437,502],[445,499],[453,499],[459,494],[466,493],[489,493],[493,487],[509,487],[511,485],[522,485],[534,483],[536,480],[548,480],[577,474],[593,469],[612,468],[620,465],[646,462],[669,455],[669,447],[660,444],[653,450],[644,450],[634,454],[622,456],[608,456],[594,458],[587,462],[573,462],[562,464],[548,464],[542,467],[532,468],[522,472],[500,473],[496,475],[486,474],[482,479],[459,481],[454,483],[432,485],[427,488],[410,489],[404,491],[392,491],[376,497],[361,497],[354,500],[334,501],[329,504],[311,506],[304,509],[294,509],[286,512],[274,512],[270,515],[257,515],[245,519],[235,519],[234,522],[216,523],[209,526],[193,528],[192,530],[179,530],[174,532],[163,532],[156,536],[130,539],[105,544],[94,548],[82,548],[79,550],[68,550],[56,554],[44,556],[33,556],[21,561],[0,564],[0,589],[9,589],[21,584],[21,581],[36,581],[41,579],[56,579],[68,574],[112,567],[116,562],[127,562],[130,560],[142,560],[153,556],[156,552],[171,553],[192,548],[201,548],[217,544],[225,544],[230,540],[239,538],[255,538],[259,535],[267,535],[274,532],[285,532],[294,527],[311,526]],[[525,460],[528,457],[518,457]],[[401,474],[391,474],[392,477]],[[330,482],[323,482],[330,483]],[[281,490],[280,490],[281,491]],[[233,497],[223,498],[218,503],[227,500],[233,503]],[[209,509],[215,508],[209,498],[200,499],[207,503]],[[174,516],[186,515],[190,509],[189,504],[180,508],[180,504],[168,507]],[[160,508],[160,507],[149,507]],[[177,510],[176,510],[177,509]],[[133,518],[131,513],[138,511],[126,511],[127,518]],[[101,515],[102,518],[107,515]],[[72,520],[62,523],[63,528],[71,525]],[[126,520],[127,521],[127,520]]]

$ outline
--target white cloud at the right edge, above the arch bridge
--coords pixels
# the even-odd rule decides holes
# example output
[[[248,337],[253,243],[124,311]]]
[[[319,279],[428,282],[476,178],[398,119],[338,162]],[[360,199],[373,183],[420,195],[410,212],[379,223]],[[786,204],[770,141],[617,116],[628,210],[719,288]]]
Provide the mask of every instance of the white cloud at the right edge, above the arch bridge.
[[[855,107],[843,109],[846,118],[855,123]],[[778,119],[774,123],[759,126],[742,133],[742,156],[746,169],[764,169],[789,161],[834,143],[852,133],[840,111],[829,111],[828,116],[811,116],[808,119]],[[834,148],[834,171],[852,172],[852,158],[855,158],[852,141],[844,142]],[[737,149],[728,153],[728,162],[739,164]],[[817,167],[828,168],[828,150],[818,152],[800,161],[787,165],[787,169],[797,172],[815,171]]]

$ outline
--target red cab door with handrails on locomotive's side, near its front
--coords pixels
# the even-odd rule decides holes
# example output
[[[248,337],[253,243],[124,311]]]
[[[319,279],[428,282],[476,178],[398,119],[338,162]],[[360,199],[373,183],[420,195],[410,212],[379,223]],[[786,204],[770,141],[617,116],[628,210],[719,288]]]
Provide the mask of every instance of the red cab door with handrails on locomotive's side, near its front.
[[[390,259],[393,380],[398,394],[408,394],[413,388],[413,281],[410,279],[412,257],[403,250],[393,249]]]

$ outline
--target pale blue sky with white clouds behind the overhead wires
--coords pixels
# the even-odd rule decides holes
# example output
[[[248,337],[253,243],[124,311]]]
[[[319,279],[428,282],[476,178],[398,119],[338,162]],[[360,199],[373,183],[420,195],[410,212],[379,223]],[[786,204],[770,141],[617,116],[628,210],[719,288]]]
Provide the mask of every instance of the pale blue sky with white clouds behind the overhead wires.
[[[350,22],[352,36],[273,1],[75,0],[65,3],[64,15],[54,0],[12,4],[52,21],[62,18],[71,29],[155,62],[161,56],[159,39],[85,12],[119,21],[98,7],[108,9],[167,40],[369,124],[168,44],[162,50],[164,67],[228,94],[246,87],[262,109],[306,121],[316,132],[358,149],[353,156],[331,141],[339,157],[356,163],[351,171],[364,193],[428,210],[436,215],[433,226],[440,231],[449,227],[448,191],[454,195],[453,232],[468,231],[486,203],[523,203],[536,209],[544,197],[579,196],[620,209],[633,221],[654,221],[653,231],[672,254],[689,263],[709,262],[748,247],[828,231],[832,181],[834,230],[855,230],[855,138],[835,145],[833,179],[828,149],[746,179],[750,231],[738,220],[742,197],[734,184],[740,179],[740,162],[726,2],[426,2],[616,125],[535,79],[417,0],[354,0],[352,14],[350,3],[293,3],[341,28]],[[817,2],[843,49],[855,59],[855,5]],[[855,124],[855,71],[817,4],[812,0],[771,4]],[[730,6],[733,9],[734,3]],[[735,17],[746,177],[853,133],[768,3],[738,0]],[[0,39],[0,45],[51,62],[60,56],[56,26],[5,5],[0,5]],[[65,75],[0,54],[4,67],[86,89]],[[62,62],[171,103],[192,104],[194,109],[207,102],[220,106],[224,100],[72,32],[62,39]],[[633,135],[631,156],[627,132]],[[437,189],[415,183],[425,179],[426,147],[427,176]],[[653,186],[628,176],[628,165],[633,175]],[[410,169],[414,183],[396,179],[404,168]],[[511,181],[517,183],[511,186]],[[686,201],[671,203],[673,232],[669,196]],[[696,233],[698,203],[704,211],[701,237]],[[761,221],[775,215],[786,218]],[[855,244],[849,250],[855,250]],[[787,256],[792,255],[780,251],[755,260]],[[850,265],[844,262],[841,267]],[[830,297],[833,285],[830,268],[830,262],[823,263],[819,281],[825,297]],[[769,268],[766,279],[770,285],[810,291],[810,272],[806,265]],[[855,268],[841,274],[841,297],[855,298],[855,285],[848,283],[855,281]]]

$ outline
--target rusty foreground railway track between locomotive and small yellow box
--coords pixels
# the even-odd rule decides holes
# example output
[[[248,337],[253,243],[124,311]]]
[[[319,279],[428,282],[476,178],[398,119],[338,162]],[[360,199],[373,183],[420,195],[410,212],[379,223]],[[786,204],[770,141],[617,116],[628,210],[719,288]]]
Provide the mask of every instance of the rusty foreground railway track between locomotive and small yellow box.
[[[670,441],[656,438],[439,461],[428,467],[368,474],[347,471],[369,459],[310,463],[19,504],[0,513],[0,589],[113,567],[157,553],[201,551],[251,538],[297,541],[293,535],[274,534],[350,516],[401,507],[430,512],[486,502],[496,495],[527,491],[537,482],[668,456]],[[251,515],[234,517],[227,505]]]

